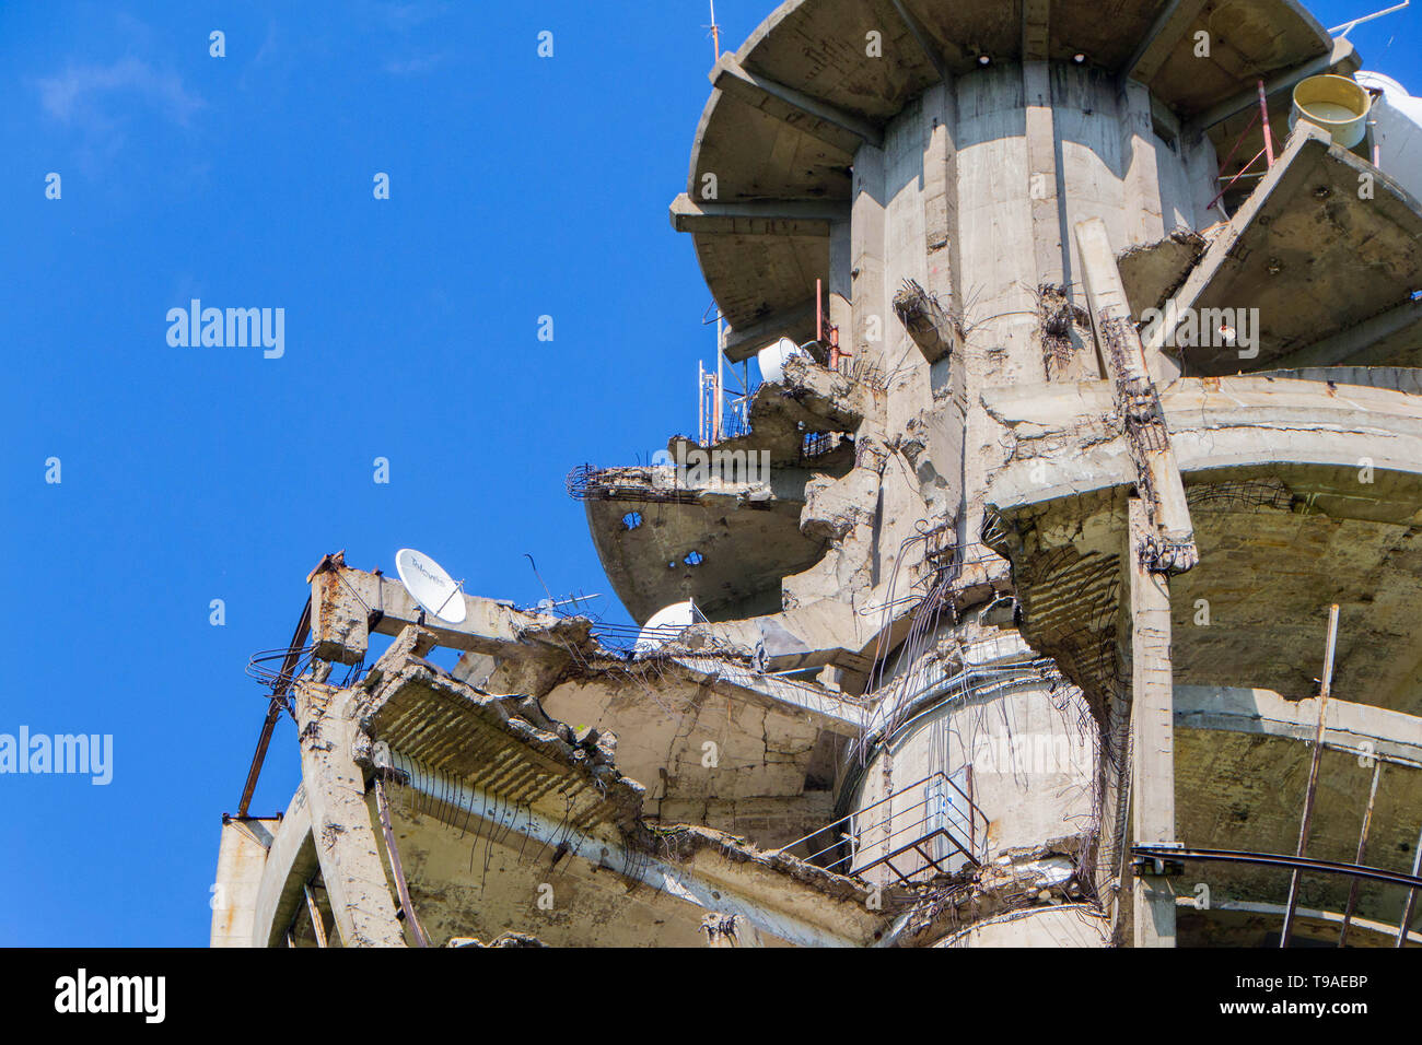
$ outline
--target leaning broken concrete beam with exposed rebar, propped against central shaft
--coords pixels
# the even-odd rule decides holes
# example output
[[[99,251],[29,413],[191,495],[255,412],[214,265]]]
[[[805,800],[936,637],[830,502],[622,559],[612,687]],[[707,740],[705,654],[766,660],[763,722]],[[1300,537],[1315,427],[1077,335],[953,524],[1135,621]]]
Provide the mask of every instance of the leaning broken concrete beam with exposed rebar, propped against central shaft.
[[[1190,506],[1185,499],[1185,482],[1170,448],[1170,434],[1149,360],[1135,323],[1130,321],[1130,304],[1121,270],[1116,269],[1106,223],[1099,218],[1078,223],[1076,250],[1081,254],[1091,323],[1136,466],[1136,486],[1150,513],[1153,535],[1148,557],[1158,569],[1183,573],[1200,559],[1194,546]]]

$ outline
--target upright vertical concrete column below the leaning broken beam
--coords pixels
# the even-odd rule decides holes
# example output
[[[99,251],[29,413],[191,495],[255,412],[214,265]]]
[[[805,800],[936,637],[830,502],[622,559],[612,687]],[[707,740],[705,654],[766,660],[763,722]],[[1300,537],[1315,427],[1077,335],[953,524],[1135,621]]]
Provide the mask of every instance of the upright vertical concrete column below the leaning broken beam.
[[[1130,499],[1130,835],[1175,842],[1175,685],[1170,668],[1170,580],[1142,557],[1150,535],[1145,503]],[[1136,947],[1175,947],[1175,891],[1160,877],[1135,877]]]

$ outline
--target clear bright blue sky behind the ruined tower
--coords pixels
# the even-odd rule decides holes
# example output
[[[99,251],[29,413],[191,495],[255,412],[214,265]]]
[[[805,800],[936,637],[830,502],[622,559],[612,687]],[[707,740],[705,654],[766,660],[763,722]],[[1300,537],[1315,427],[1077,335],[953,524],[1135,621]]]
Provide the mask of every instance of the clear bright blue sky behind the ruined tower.
[[[772,6],[720,0],[722,38]],[[0,944],[206,943],[264,709],[243,665],[289,640],[324,552],[388,572],[412,545],[520,603],[532,553],[555,593],[607,591],[563,476],[695,428],[708,294],[667,205],[708,21],[704,0],[0,7],[0,732],[115,745],[109,786],[0,776]],[[1422,91],[1404,37],[1416,10],[1354,33]],[[169,347],[193,297],[284,309],[284,357]],[[284,721],[253,812],[297,779]]]

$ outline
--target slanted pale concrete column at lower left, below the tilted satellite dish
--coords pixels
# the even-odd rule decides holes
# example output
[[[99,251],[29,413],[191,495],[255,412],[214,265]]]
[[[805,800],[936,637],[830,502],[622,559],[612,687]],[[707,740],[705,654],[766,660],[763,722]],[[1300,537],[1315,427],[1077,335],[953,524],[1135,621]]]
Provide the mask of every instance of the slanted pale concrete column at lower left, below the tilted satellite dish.
[[[404,947],[395,901],[385,879],[365,776],[351,754],[356,721],[350,692],[320,682],[296,684],[301,779],[321,879],[343,947]]]

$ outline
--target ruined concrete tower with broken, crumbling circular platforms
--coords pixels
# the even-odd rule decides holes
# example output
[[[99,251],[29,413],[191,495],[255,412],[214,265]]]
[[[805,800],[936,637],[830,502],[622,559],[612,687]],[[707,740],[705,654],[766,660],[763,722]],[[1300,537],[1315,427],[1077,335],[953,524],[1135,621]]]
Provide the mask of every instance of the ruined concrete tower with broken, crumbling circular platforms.
[[[648,627],[323,559],[213,943],[1416,941],[1422,205],[1358,67],[1293,0],[782,3],[671,206],[765,381],[569,479]]]

